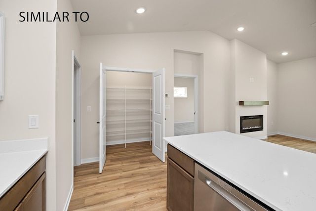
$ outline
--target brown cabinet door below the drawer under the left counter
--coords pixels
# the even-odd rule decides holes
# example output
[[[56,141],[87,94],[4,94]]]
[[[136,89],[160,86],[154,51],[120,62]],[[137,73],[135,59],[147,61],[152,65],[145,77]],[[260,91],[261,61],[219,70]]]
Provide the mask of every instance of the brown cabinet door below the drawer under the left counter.
[[[35,183],[22,201],[23,211],[45,211],[46,172]]]

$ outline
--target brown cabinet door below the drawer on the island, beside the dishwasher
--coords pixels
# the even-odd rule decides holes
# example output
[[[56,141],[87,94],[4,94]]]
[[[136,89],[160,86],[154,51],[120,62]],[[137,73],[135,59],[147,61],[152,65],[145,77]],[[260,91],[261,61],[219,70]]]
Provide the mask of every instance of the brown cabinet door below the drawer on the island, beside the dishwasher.
[[[193,211],[194,178],[168,158],[167,209],[169,211]]]

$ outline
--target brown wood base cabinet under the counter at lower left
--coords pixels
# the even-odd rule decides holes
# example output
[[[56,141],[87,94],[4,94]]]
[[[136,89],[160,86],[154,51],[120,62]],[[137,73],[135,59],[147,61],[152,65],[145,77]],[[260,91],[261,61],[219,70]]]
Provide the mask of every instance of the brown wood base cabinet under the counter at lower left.
[[[46,157],[0,198],[0,211],[46,210]]]

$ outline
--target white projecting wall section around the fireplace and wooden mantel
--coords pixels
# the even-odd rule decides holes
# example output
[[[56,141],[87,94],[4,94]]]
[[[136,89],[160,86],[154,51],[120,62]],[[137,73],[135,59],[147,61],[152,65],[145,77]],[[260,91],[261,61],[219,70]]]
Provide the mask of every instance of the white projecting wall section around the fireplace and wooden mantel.
[[[267,137],[267,106],[239,106],[239,101],[267,100],[266,54],[238,40],[231,41],[235,71],[235,133],[240,133],[240,116],[264,115],[263,131],[247,132],[249,137]],[[250,80],[252,79],[252,80]],[[232,87],[234,88],[234,87]],[[234,90],[234,89],[233,89]]]

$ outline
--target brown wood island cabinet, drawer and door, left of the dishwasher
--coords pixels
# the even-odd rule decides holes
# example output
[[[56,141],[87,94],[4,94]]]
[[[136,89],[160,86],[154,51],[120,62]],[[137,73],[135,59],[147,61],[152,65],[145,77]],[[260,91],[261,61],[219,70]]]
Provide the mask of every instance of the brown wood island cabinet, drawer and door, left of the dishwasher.
[[[168,144],[167,209],[193,211],[194,160]]]

